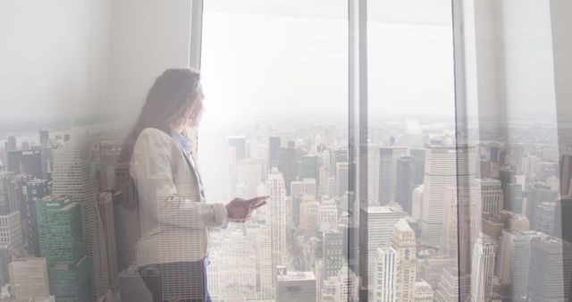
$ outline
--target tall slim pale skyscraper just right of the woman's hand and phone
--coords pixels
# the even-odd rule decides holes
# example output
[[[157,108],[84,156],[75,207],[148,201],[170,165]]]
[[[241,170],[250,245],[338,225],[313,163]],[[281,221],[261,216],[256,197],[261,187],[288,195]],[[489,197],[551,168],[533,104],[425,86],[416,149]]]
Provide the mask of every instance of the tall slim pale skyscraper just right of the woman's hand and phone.
[[[273,169],[268,174],[266,194],[270,196],[270,217],[266,221],[270,224],[270,239],[272,246],[273,275],[277,265],[287,265],[289,262],[288,247],[286,246],[286,190],[281,172]]]

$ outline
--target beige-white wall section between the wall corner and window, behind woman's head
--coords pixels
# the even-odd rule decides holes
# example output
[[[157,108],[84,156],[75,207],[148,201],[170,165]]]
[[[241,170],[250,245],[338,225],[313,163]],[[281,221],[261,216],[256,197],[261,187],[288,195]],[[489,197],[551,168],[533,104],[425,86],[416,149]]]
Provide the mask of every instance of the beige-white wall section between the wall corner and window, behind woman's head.
[[[191,0],[114,0],[107,102],[131,116],[165,69],[189,65]]]

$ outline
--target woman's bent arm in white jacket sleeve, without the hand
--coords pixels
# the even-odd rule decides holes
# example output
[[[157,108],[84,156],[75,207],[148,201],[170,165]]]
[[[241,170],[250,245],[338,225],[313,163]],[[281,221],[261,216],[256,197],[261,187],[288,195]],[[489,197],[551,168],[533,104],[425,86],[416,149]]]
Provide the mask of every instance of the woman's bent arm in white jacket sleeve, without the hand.
[[[180,152],[161,130],[141,131],[133,148],[130,170],[139,192],[139,206],[159,223],[183,228],[220,226],[227,221],[223,204],[201,203],[195,197],[180,196],[172,180],[172,158]]]

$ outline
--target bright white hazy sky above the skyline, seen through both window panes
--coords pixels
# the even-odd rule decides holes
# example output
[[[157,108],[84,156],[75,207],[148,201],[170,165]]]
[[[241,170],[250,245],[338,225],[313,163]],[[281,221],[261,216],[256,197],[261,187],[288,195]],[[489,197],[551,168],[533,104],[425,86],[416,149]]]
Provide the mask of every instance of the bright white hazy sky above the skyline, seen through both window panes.
[[[244,117],[347,113],[347,20],[206,6],[204,22],[206,127]],[[452,118],[450,27],[372,21],[368,44],[370,113]]]

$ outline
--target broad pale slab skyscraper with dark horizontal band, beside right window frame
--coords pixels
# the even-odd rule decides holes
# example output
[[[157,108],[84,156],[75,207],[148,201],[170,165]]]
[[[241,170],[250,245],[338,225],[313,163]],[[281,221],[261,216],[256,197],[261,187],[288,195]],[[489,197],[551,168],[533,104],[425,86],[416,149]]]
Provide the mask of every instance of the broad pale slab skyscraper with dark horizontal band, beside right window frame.
[[[421,239],[438,246],[443,232],[443,195],[445,187],[467,187],[475,179],[475,147],[430,145],[425,149],[425,180]]]

